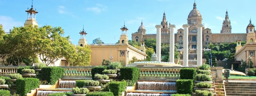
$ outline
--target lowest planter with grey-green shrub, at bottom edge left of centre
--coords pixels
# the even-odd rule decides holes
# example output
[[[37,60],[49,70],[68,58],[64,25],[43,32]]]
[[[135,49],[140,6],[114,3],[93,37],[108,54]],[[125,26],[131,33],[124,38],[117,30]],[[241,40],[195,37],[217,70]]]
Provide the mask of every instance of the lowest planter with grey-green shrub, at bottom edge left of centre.
[[[70,94],[70,96],[86,96],[86,94],[89,92],[90,90],[88,90],[87,88],[73,88],[72,92],[74,94]]]

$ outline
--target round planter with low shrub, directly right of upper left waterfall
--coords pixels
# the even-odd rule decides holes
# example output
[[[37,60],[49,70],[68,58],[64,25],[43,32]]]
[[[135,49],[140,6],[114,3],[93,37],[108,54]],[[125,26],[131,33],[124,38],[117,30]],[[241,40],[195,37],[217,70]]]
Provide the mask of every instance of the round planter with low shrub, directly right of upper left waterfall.
[[[99,81],[84,80],[84,88],[87,88],[89,90],[100,90],[101,86],[99,86],[99,84]]]

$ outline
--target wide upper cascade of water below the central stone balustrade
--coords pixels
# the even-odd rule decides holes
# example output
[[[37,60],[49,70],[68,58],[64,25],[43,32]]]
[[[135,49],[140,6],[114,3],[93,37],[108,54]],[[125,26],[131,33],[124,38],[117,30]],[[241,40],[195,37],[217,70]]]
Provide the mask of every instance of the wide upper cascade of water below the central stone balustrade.
[[[175,82],[137,82],[137,90],[176,91],[175,84]]]

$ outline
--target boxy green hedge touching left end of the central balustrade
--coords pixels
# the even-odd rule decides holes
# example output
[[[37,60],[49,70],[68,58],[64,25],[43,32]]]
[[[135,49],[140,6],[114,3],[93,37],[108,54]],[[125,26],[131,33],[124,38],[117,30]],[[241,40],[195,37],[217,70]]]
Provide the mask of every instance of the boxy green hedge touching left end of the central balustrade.
[[[137,67],[123,67],[120,69],[121,80],[132,80],[132,86],[139,79],[140,69]]]

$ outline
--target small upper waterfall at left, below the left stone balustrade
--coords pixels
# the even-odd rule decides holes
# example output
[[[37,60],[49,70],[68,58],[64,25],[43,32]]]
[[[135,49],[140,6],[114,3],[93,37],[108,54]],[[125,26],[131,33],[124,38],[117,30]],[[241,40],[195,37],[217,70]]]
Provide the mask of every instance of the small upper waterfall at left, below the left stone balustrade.
[[[76,81],[60,81],[59,88],[75,88]]]

